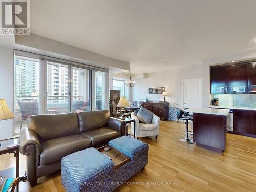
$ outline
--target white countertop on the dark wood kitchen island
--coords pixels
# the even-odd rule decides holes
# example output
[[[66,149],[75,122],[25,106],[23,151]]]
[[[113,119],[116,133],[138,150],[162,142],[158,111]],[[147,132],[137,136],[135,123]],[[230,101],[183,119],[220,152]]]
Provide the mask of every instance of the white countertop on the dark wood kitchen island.
[[[191,113],[201,113],[201,114],[210,114],[210,115],[224,115],[227,116],[229,111],[228,109],[215,109],[215,108],[190,108],[184,110],[185,112]]]

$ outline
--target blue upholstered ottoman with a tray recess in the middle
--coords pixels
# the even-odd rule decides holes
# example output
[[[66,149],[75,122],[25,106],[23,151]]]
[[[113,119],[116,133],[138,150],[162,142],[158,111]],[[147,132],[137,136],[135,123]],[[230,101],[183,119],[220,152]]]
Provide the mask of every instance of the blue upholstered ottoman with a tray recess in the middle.
[[[62,184],[67,192],[113,191],[147,164],[148,144],[122,136],[109,141],[109,146],[131,158],[118,169],[95,148],[70,154],[61,160]]]

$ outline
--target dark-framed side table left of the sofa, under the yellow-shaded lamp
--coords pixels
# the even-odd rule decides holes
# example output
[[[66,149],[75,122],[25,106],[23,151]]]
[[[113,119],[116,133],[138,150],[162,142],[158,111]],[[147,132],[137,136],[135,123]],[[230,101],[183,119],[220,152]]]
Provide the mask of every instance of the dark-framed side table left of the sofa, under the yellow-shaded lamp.
[[[11,138],[0,141],[0,155],[13,153],[16,157],[16,177],[19,177],[19,138]],[[17,144],[16,146],[7,147],[9,145]],[[1,175],[1,172],[0,172]],[[3,175],[4,176],[4,175]],[[18,183],[17,183],[17,192],[18,192]]]

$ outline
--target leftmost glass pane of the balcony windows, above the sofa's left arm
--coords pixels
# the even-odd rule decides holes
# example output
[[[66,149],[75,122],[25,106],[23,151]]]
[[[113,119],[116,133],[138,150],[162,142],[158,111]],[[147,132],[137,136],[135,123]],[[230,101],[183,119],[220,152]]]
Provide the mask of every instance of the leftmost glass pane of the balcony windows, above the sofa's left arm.
[[[39,114],[39,60],[14,58],[14,133],[27,126],[30,115]]]

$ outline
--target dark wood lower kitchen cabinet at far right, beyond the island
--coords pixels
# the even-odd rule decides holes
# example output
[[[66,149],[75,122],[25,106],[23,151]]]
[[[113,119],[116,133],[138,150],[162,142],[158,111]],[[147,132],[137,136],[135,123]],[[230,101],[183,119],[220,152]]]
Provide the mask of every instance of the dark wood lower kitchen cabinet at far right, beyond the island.
[[[234,133],[246,136],[252,135],[253,115],[255,115],[254,112],[256,111],[234,110]]]

